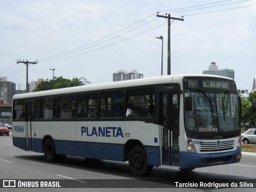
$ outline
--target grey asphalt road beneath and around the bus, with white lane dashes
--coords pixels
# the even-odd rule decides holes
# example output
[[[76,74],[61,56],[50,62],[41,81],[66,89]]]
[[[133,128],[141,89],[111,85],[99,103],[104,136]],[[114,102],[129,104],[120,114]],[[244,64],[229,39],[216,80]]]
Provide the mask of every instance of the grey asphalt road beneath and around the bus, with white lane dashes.
[[[252,180],[251,180],[252,179]],[[192,185],[197,181],[244,181],[256,187],[256,156],[243,154],[237,164],[197,168],[192,172],[184,173],[177,168],[154,167],[147,177],[134,176],[127,162],[112,162],[106,160],[85,160],[84,158],[67,156],[61,163],[49,163],[44,155],[35,152],[26,152],[12,145],[12,134],[0,136],[0,180],[51,180],[62,181],[64,186],[81,188],[0,188],[0,191],[228,191],[228,192],[255,192],[255,188],[190,188],[177,187],[175,181],[182,181]],[[63,184],[63,181],[65,182]],[[2,182],[2,181],[1,181]],[[205,183],[205,182],[204,182]],[[180,183],[178,183],[180,184]],[[242,183],[244,184],[244,183]],[[0,185],[1,186],[1,185]],[[83,188],[84,187],[84,188]],[[156,190],[157,189],[157,190]]]

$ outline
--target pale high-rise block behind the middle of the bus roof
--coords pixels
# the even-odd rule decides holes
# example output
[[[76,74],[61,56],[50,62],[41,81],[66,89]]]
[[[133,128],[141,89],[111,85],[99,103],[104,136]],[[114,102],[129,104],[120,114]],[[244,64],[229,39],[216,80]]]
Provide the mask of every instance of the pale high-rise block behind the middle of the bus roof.
[[[113,82],[142,78],[143,74],[138,73],[137,70],[132,70],[131,72],[128,72],[126,70],[118,70],[117,72],[113,73]]]

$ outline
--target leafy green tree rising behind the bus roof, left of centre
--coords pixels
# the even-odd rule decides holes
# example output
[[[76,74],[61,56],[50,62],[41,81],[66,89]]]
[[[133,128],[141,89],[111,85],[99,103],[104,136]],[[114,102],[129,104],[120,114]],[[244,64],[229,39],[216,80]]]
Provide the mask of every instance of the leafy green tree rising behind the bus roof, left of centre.
[[[79,79],[73,77],[73,79],[70,80],[60,76],[57,78],[54,77],[54,79],[51,79],[51,80],[46,79],[45,81],[38,84],[38,86],[36,87],[36,89],[34,89],[33,92],[60,89],[60,88],[66,88],[66,87],[75,87],[75,86],[81,86],[85,84],[90,84],[90,82],[86,81],[86,78],[84,77],[81,77]]]

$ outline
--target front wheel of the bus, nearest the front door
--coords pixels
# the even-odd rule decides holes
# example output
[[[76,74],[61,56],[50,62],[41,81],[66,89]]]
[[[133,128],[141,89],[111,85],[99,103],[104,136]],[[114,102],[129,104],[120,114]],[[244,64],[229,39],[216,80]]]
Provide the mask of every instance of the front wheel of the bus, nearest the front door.
[[[153,166],[148,165],[147,154],[140,146],[135,146],[129,153],[129,168],[136,176],[150,174]]]

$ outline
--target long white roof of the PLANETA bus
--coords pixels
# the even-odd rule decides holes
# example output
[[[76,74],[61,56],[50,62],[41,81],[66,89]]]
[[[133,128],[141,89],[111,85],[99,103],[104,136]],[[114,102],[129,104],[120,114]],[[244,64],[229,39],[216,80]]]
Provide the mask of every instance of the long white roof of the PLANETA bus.
[[[101,83],[101,84],[94,84],[94,85],[60,88],[60,89],[31,92],[31,93],[24,93],[24,94],[16,94],[13,96],[13,99],[51,96],[51,95],[59,95],[59,94],[72,94],[72,93],[79,93],[79,92],[85,92],[85,91],[108,90],[113,88],[136,87],[136,86],[146,86],[146,85],[154,85],[154,84],[166,84],[166,83],[182,84],[182,80],[184,77],[212,77],[212,78],[222,78],[227,80],[233,80],[231,78],[227,78],[224,76],[217,76],[217,75],[175,74],[175,75],[126,80],[126,81],[108,82],[108,83]]]

